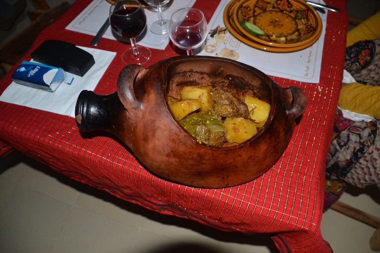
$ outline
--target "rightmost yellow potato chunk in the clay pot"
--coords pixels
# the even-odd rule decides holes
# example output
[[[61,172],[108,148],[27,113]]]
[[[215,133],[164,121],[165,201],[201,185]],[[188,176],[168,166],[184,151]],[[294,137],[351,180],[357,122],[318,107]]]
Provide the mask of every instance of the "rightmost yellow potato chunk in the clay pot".
[[[251,96],[245,96],[244,103],[248,106],[249,118],[254,121],[256,127],[263,127],[268,120],[271,105]]]

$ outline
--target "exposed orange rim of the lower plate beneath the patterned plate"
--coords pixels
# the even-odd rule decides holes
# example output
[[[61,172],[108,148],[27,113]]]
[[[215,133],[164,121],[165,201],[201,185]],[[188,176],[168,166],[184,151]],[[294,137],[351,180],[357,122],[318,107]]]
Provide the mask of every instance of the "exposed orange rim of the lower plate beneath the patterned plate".
[[[315,40],[315,41],[303,44],[301,46],[295,46],[295,47],[275,47],[275,46],[270,46],[270,45],[258,43],[256,41],[252,40],[251,38],[247,37],[245,34],[243,34],[238,29],[237,25],[235,24],[234,10],[235,10],[235,7],[237,6],[237,4],[239,3],[239,1],[240,0],[232,0],[231,2],[228,3],[228,5],[226,6],[226,8],[224,10],[223,19],[224,19],[224,23],[225,23],[227,29],[230,31],[230,33],[234,37],[236,37],[239,41],[241,41],[241,42],[243,42],[249,46],[252,46],[252,47],[260,49],[260,50],[268,51],[268,52],[294,52],[294,51],[299,51],[299,50],[302,50],[306,47],[309,47],[315,41],[318,40],[318,38],[317,38],[317,40]]]

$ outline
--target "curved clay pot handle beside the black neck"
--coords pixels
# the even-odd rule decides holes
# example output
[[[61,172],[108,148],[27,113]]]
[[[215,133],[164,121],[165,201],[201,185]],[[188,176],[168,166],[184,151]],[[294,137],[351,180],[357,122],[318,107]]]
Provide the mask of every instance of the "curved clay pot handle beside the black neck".
[[[135,96],[134,84],[137,75],[143,70],[145,68],[141,65],[131,64],[120,71],[117,80],[117,95],[127,110],[140,107],[140,102]]]

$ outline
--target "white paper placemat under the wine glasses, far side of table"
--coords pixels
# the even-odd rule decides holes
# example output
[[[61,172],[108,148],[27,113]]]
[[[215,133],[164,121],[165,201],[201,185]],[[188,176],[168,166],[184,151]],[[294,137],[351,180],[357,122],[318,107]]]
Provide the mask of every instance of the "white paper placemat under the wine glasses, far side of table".
[[[172,0],[167,5],[163,6],[163,15],[169,18],[172,14],[181,8],[191,7],[195,0]],[[67,27],[67,30],[96,35],[97,31],[103,25],[104,21],[108,18],[109,8],[111,3],[106,0],[94,0],[87,6],[81,14],[79,14]],[[169,43],[169,35],[153,34],[148,29],[151,22],[158,19],[157,8],[148,6],[144,8],[146,15],[146,28],[142,36],[137,38],[137,43],[146,47],[164,50]],[[104,38],[116,40],[112,34],[111,27],[105,31]]]

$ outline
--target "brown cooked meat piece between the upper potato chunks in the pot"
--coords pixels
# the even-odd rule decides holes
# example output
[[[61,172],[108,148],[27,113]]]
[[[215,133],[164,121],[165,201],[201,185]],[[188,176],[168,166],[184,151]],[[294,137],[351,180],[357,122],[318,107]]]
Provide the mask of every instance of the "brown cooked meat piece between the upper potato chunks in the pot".
[[[214,110],[220,117],[248,118],[247,105],[234,97],[227,88],[215,88],[211,90],[211,97],[215,101]]]

